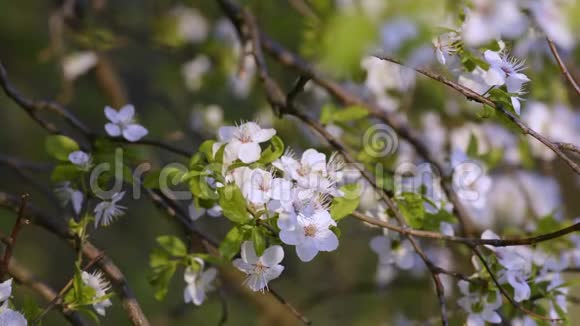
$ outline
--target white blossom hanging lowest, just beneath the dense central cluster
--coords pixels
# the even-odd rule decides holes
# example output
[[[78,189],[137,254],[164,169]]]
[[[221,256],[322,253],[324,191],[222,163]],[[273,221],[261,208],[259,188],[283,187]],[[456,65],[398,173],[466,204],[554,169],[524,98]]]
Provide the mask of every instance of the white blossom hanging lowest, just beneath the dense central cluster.
[[[232,263],[248,275],[244,283],[252,291],[267,290],[268,282],[278,278],[284,270],[284,266],[280,265],[284,259],[284,250],[280,246],[271,246],[258,257],[254,244],[251,241],[245,241],[242,244],[241,256],[242,258],[237,258]]]

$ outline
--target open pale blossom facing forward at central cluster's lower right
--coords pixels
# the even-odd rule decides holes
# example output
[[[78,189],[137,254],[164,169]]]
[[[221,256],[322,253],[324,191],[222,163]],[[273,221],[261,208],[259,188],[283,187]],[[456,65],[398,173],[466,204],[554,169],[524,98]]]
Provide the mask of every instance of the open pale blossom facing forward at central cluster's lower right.
[[[319,251],[333,251],[338,247],[338,238],[330,226],[336,226],[336,222],[327,211],[319,210],[311,216],[299,214],[295,225],[280,231],[280,240],[295,245],[298,258],[309,262]]]

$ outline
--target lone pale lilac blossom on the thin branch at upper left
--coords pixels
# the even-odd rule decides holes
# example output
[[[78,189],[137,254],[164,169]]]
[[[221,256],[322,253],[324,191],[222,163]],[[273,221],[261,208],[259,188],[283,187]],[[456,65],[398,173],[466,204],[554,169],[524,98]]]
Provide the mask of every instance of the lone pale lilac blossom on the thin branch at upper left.
[[[126,140],[135,142],[149,133],[145,127],[135,122],[135,107],[131,104],[125,105],[120,111],[106,106],[105,116],[111,121],[105,125],[105,130],[111,137],[123,136]]]

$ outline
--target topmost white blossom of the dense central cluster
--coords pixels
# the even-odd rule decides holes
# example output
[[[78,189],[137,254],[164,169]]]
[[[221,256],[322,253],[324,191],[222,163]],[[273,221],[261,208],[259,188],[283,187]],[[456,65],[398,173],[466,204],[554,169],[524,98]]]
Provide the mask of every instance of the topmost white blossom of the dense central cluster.
[[[274,129],[262,129],[255,122],[239,126],[224,126],[219,129],[218,140],[213,146],[214,155],[226,143],[224,162],[232,163],[240,159],[243,163],[253,163],[260,159],[260,143],[267,142],[276,135]]]

